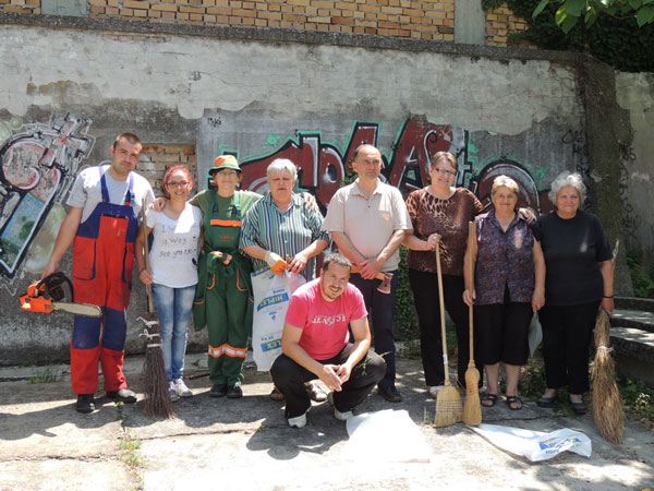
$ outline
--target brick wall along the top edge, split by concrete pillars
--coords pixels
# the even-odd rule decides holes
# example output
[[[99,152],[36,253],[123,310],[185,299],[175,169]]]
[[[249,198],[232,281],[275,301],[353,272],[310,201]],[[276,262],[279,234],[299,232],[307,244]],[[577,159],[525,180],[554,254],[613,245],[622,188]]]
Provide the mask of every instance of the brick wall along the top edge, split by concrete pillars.
[[[88,0],[88,15],[138,22],[284,27],[455,40],[456,0]],[[40,13],[40,0],[0,0],[0,12]],[[488,46],[526,29],[506,3],[486,12]]]

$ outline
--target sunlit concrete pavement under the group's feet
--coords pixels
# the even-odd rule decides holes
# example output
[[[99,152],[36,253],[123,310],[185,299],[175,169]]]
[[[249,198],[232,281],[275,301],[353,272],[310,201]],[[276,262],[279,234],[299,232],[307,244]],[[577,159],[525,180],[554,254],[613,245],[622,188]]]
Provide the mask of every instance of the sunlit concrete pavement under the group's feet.
[[[189,355],[186,382],[194,397],[175,403],[178,418],[152,420],[143,402],[119,407],[99,399],[98,410],[80,415],[68,367],[49,383],[27,383],[45,369],[0,369],[1,490],[640,490],[654,487],[654,433],[629,422],[625,445],[606,442],[590,416],[557,416],[525,402],[509,411],[499,402],[484,408],[484,422],[538,431],[572,428],[593,442],[590,458],[564,453],[543,463],[506,453],[458,423],[429,424],[434,402],[425,393],[419,360],[398,360],[401,404],[372,394],[360,412],[405,409],[432,452],[428,463],[371,462],[346,452],[346,424],[327,403],[316,404],[308,424],[287,426],[282,405],[268,398],[269,376],[247,363],[242,399],[208,397],[201,375],[206,356]],[[125,371],[142,390],[142,358]],[[98,393],[100,396],[101,393]],[[391,448],[393,441],[388,441]],[[365,452],[368,452],[367,450]],[[378,445],[370,452],[379,452]]]

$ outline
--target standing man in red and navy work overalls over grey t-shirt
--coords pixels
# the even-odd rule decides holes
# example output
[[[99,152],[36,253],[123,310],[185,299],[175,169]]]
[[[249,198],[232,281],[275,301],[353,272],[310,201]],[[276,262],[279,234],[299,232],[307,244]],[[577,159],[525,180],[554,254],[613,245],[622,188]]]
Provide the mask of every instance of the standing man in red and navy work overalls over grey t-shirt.
[[[71,339],[71,382],[77,394],[75,409],[92,412],[98,384],[98,360],[107,397],[136,402],[123,375],[126,311],[132,289],[134,240],[143,201],[153,202],[153,189],[133,172],[142,144],[132,133],[120,134],[111,146],[109,165],[87,167],[73,184],[47,276],[73,244],[74,301],[102,308],[101,318],[75,315]]]

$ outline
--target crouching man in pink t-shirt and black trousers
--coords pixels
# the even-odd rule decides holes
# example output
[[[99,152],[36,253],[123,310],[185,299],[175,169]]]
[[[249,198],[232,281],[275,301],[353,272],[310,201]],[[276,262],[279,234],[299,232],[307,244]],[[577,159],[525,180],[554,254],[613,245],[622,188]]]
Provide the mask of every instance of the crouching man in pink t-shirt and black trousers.
[[[346,421],[386,372],[384,359],[370,350],[367,311],[361,292],[348,283],[351,268],[344,255],[329,254],[320,277],[291,297],[281,335],[283,354],[270,374],[284,395],[292,428],[304,427],[311,409],[304,382],[319,378],[332,391],[328,399],[334,416]]]

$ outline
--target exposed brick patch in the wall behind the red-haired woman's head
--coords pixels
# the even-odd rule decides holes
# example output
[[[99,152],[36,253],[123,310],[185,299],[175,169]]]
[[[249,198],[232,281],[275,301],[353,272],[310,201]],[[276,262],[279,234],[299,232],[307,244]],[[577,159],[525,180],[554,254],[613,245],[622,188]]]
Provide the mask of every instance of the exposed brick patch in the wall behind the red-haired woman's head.
[[[195,144],[192,143],[145,143],[141,151],[141,159],[136,170],[145,177],[155,195],[164,195],[161,190],[161,181],[168,169],[174,166],[184,166],[193,176],[195,181],[194,190],[197,191],[197,160],[195,158]]]

